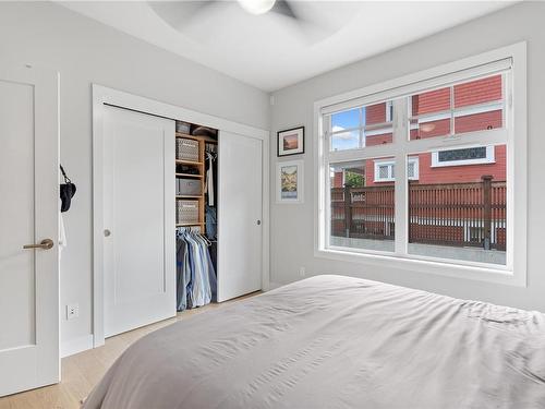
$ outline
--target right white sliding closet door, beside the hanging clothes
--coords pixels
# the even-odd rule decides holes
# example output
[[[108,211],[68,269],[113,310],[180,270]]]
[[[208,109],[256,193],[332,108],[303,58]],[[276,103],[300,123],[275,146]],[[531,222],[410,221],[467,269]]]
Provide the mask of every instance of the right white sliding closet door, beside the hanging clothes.
[[[262,141],[219,134],[218,301],[262,289]]]

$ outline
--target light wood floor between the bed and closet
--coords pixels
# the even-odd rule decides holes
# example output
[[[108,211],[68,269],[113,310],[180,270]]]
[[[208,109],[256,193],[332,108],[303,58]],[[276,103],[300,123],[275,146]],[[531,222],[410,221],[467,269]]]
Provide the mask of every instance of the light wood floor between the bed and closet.
[[[178,313],[174,318],[108,338],[106,345],[100,348],[63,358],[60,384],[0,398],[0,409],[77,409],[80,401],[90,393],[113,361],[138,338],[177,321],[191,320],[193,315],[220,309],[226,304],[253,297],[259,292],[220,304],[208,304],[195,310],[187,310]]]

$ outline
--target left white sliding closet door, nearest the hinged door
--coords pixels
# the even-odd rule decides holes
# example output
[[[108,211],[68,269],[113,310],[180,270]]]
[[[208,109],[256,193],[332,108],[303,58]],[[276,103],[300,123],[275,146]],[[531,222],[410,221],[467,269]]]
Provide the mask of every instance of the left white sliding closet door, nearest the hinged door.
[[[174,121],[105,107],[105,336],[175,315]]]

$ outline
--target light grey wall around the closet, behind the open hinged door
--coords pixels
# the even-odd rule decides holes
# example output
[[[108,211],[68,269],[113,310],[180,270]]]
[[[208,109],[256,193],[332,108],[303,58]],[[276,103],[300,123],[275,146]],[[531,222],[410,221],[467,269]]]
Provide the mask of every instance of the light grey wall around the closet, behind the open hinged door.
[[[61,257],[64,350],[88,345],[92,330],[92,93],[98,83],[262,129],[268,95],[50,2],[0,2],[0,63],[45,65],[61,77],[61,163],[77,185],[64,214]]]

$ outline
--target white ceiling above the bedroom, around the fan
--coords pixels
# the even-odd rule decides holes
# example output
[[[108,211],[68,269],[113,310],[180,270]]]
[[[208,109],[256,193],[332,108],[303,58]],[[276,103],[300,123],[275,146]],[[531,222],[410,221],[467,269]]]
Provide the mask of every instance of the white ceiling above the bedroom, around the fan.
[[[61,1],[62,5],[266,92],[392,49],[513,1],[295,1],[301,24],[252,15],[234,1],[162,20],[147,1]],[[157,3],[154,4],[157,7]],[[179,9],[179,10],[178,10]],[[190,16],[192,16],[190,19]],[[179,29],[174,28],[178,27]]]

